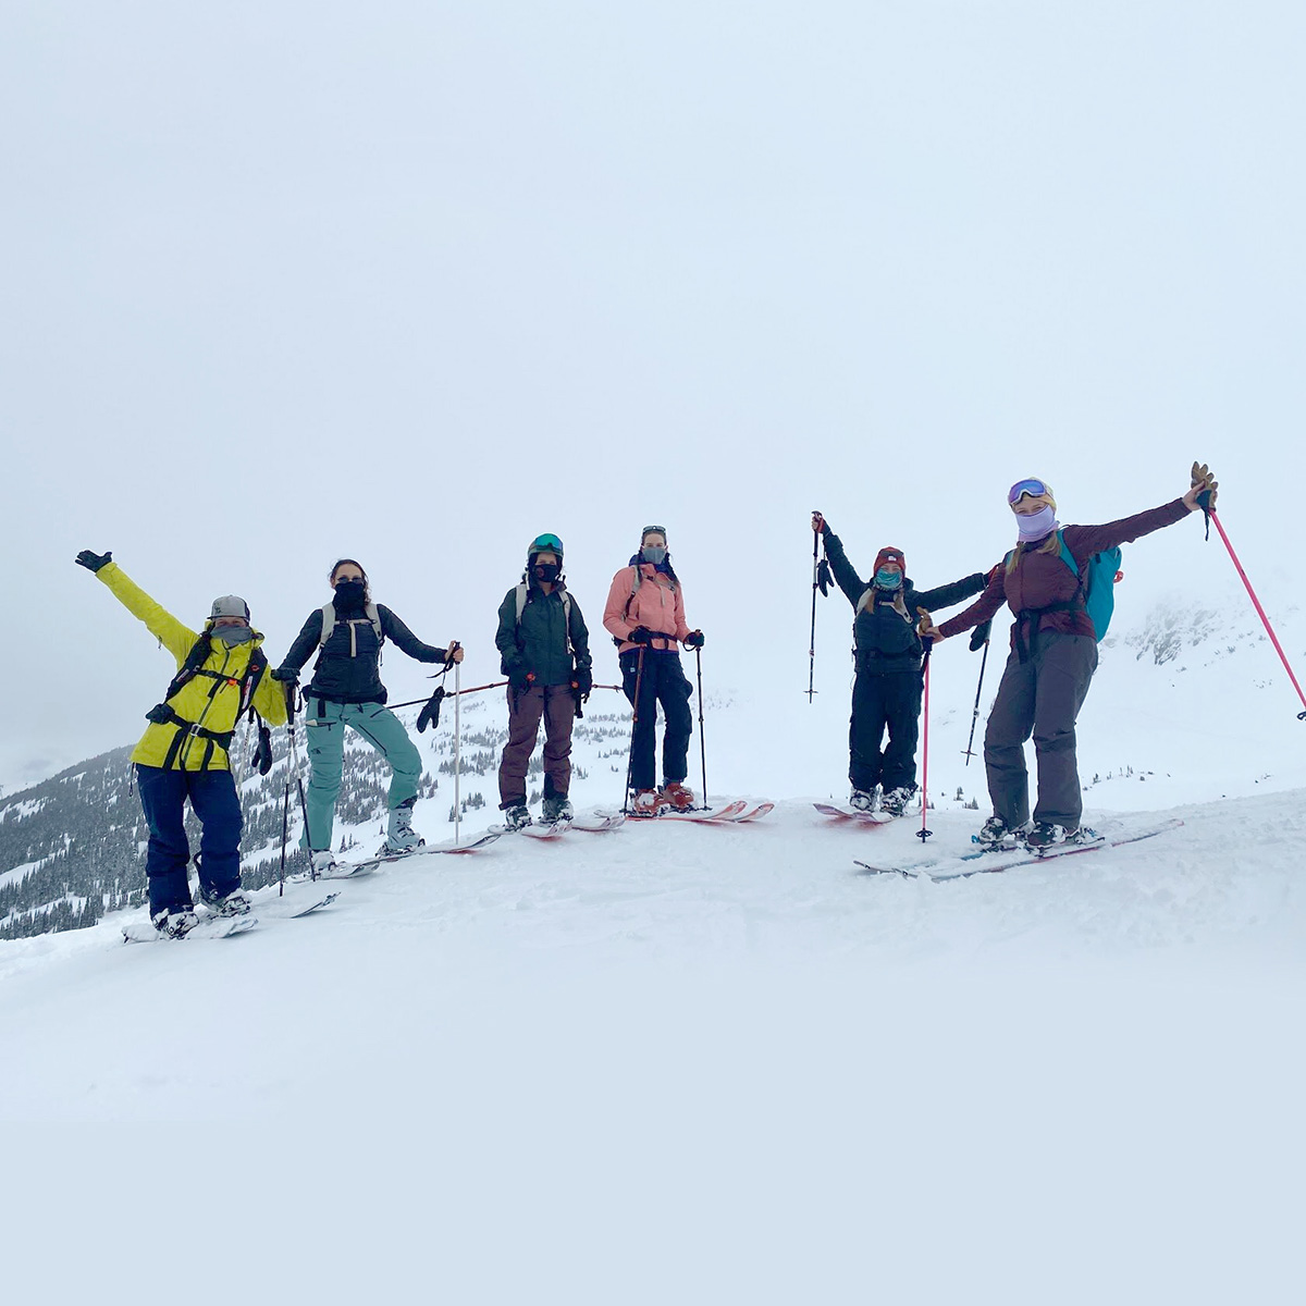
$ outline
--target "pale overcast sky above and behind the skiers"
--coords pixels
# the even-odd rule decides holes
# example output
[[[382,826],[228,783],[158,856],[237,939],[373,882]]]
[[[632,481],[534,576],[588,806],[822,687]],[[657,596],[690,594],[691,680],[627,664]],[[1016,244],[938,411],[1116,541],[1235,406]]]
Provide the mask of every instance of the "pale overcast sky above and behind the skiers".
[[[84,547],[192,623],[244,594],[274,661],[349,554],[490,678],[535,533],[597,627],[665,522],[717,683],[789,692],[812,507],[932,585],[1008,546],[1017,477],[1101,521],[1200,457],[1299,596],[1298,3],[0,22],[7,789],[133,741],[172,670]],[[1225,579],[1199,535],[1138,546],[1132,593]],[[392,697],[422,673],[392,653]]]

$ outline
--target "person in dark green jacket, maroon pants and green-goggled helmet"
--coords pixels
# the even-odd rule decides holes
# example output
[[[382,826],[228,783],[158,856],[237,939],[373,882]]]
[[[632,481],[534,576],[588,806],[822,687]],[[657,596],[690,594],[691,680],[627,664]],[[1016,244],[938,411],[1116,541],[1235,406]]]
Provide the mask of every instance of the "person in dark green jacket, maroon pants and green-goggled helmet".
[[[571,733],[580,704],[594,687],[589,631],[563,576],[563,542],[537,535],[526,569],[499,605],[495,644],[508,677],[508,742],[499,763],[499,807],[509,829],[530,824],[526,771],[545,721],[542,820],[572,819]]]

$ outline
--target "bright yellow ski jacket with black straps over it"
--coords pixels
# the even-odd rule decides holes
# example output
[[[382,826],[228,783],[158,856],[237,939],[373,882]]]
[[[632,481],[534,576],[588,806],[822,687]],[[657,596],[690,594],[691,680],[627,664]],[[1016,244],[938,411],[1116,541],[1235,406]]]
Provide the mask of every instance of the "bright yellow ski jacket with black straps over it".
[[[165,611],[118,563],[106,563],[95,575],[133,616],[145,623],[150,635],[176,658],[180,670],[200,637],[199,632]],[[251,654],[261,644],[263,636],[257,631],[248,643],[230,648],[222,640],[214,640],[200,674],[193,675],[167,700],[176,717],[191,726],[199,726],[205,734],[196,734],[185,725],[172,721],[151,721],[132,752],[132,761],[142,767],[168,769],[230,771],[227,747],[210,735],[225,735],[235,729],[240,709],[240,680],[249,666]],[[253,692],[253,705],[264,721],[285,725],[285,691],[268,671],[264,671]]]

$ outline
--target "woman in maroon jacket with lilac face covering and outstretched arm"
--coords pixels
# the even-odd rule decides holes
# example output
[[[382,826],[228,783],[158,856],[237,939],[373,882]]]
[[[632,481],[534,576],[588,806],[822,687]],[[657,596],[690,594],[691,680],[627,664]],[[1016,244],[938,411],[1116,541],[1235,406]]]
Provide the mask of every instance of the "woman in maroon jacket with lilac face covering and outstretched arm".
[[[1205,465],[1192,464],[1187,494],[1160,508],[1101,526],[1064,526],[1057,521],[1051,486],[1037,477],[1017,481],[1007,492],[1016,516],[1017,543],[991,576],[983,594],[964,613],[935,627],[929,614],[921,635],[943,640],[993,616],[1003,599],[1016,616],[1011,656],[989,713],[983,757],[993,815],[980,842],[996,848],[1023,837],[1033,850],[1088,837],[1080,827],[1084,798],[1075,759],[1075,718],[1097,669],[1097,628],[1088,613],[1091,560],[1104,550],[1182,521],[1208,492],[1215,505],[1217,482]],[[1074,569],[1066,562],[1074,559]],[[1114,580],[1114,576],[1107,577]],[[1034,737],[1038,802],[1029,821],[1029,776],[1024,743]]]

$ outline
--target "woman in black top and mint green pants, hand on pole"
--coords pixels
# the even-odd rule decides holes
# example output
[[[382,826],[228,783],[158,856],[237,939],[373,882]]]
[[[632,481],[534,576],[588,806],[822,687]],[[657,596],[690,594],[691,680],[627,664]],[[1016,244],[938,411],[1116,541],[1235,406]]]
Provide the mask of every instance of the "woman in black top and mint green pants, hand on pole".
[[[381,852],[390,855],[411,853],[422,844],[413,829],[422,756],[404,724],[385,707],[387,691],[379,674],[381,644],[390,639],[418,662],[448,666],[462,661],[456,640],[447,649],[423,644],[388,607],[374,603],[367,572],[353,558],[336,563],[328,582],[334,590],[330,602],[308,615],[285,661],[272,673],[274,679],[291,687],[313,649],[320,650],[312,682],[304,690],[311,778],[307,828],[300,840],[319,878],[329,878],[336,871],[332,827],[346,726],[360,734],[390,765],[389,821]]]

